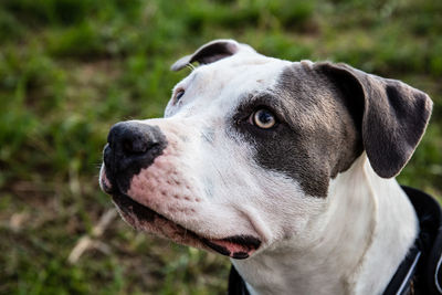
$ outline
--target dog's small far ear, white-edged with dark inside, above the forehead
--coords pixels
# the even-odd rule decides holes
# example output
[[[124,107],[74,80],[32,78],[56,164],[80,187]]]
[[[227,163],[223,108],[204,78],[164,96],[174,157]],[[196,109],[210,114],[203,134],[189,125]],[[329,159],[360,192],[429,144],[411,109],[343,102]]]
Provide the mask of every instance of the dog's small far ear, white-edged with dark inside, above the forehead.
[[[234,40],[213,40],[201,48],[199,48],[193,54],[182,56],[172,66],[171,71],[179,71],[189,63],[199,62],[200,64],[208,64],[219,61],[221,59],[231,56],[240,51],[243,44],[238,43]],[[251,48],[250,48],[251,49]]]

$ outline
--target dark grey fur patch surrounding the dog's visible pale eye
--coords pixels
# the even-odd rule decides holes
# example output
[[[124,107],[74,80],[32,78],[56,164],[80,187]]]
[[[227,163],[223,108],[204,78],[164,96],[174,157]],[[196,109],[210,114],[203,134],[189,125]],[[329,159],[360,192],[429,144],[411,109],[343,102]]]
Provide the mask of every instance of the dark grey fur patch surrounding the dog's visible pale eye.
[[[238,109],[235,129],[255,148],[265,169],[283,172],[311,196],[326,197],[330,178],[362,152],[360,131],[343,92],[308,64],[286,67],[274,89]],[[278,124],[260,129],[241,117],[266,107]]]

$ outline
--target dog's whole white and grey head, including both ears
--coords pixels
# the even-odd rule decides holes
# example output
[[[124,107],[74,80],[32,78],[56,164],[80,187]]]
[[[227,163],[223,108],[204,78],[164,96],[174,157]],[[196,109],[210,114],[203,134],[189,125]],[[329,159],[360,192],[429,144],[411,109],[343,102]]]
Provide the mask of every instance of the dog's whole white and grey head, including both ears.
[[[431,110],[403,83],[234,41],[172,69],[194,61],[165,118],[112,128],[99,181],[136,229],[234,259],[307,239],[332,179],[364,150],[379,176],[397,175]]]

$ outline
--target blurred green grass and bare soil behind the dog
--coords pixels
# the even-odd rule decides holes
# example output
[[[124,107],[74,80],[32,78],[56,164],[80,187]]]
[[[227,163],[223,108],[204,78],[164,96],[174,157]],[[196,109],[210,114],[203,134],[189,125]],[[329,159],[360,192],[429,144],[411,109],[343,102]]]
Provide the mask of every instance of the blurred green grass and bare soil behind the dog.
[[[403,185],[442,196],[441,0],[1,0],[0,294],[224,294],[229,261],[137,233],[97,179],[109,127],[162,115],[180,56],[233,38],[434,101]]]

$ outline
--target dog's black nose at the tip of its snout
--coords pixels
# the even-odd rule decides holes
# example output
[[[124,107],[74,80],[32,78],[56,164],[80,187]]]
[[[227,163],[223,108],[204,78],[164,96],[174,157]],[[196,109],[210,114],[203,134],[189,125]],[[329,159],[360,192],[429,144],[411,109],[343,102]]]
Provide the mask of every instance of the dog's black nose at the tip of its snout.
[[[138,122],[115,124],[104,149],[106,177],[125,192],[130,179],[162,154],[167,140],[158,126]]]

